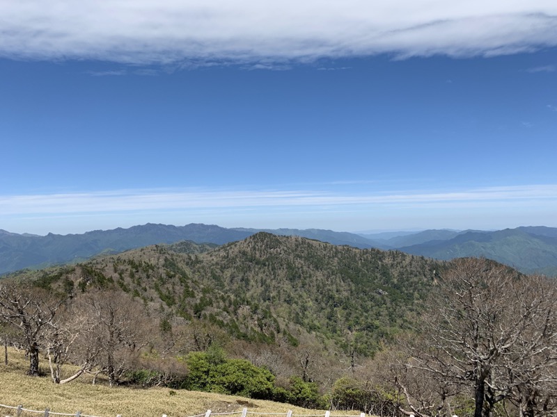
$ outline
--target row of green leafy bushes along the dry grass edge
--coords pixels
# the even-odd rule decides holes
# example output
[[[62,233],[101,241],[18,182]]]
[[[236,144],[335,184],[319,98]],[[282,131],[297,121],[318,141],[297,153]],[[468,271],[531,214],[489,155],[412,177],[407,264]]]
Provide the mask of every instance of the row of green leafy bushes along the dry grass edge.
[[[142,386],[164,384],[174,389],[207,391],[258,400],[285,402],[308,409],[359,410],[368,414],[398,415],[399,399],[379,387],[367,387],[356,379],[340,378],[331,391],[322,395],[315,382],[290,377],[285,386],[276,385],[267,369],[244,359],[229,359],[219,347],[205,352],[190,352],[185,357],[188,373],[164,379],[155,370],[136,370],[128,375],[128,383]],[[166,384],[165,384],[166,382]]]

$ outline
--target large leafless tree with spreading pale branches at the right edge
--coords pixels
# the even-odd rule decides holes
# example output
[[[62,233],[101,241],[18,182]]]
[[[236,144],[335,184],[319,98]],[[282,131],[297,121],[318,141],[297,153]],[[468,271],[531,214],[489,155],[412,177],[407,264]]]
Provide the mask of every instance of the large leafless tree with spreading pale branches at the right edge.
[[[546,284],[542,291],[540,281],[485,259],[453,261],[432,294],[407,365],[439,384],[469,387],[475,417],[491,416],[503,400],[524,408],[555,365],[555,284]]]

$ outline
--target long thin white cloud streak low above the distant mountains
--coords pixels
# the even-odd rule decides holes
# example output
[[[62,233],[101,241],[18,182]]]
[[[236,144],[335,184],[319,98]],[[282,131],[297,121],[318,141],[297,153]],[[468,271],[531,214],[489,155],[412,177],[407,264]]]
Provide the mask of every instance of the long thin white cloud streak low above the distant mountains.
[[[240,209],[343,206],[397,206],[454,208],[464,206],[553,206],[557,210],[557,185],[478,188],[446,193],[375,193],[341,195],[321,191],[111,191],[0,197],[0,216],[38,214],[117,213],[192,209]]]

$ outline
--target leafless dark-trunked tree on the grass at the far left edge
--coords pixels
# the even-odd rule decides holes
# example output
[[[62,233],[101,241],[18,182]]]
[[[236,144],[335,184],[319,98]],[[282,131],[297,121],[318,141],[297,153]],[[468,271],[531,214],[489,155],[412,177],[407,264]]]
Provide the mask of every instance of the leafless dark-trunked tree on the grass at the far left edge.
[[[45,329],[52,325],[63,298],[29,284],[0,284],[0,320],[17,329],[29,356],[29,375],[39,375]]]

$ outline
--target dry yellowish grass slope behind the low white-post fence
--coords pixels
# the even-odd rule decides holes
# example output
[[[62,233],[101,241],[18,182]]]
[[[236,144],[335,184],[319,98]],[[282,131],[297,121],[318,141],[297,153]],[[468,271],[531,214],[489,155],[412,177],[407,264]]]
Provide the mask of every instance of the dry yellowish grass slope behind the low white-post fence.
[[[43,362],[44,366],[47,366]],[[207,409],[214,413],[242,411],[284,413],[289,409],[294,414],[324,414],[324,411],[301,409],[290,404],[252,400],[230,395],[202,393],[198,391],[170,389],[110,388],[105,384],[91,384],[90,377],[81,377],[64,385],[56,385],[49,375],[29,377],[25,375],[28,363],[22,352],[10,350],[9,363],[0,364],[0,404],[15,407],[22,404],[26,409],[50,409],[56,413],[75,413],[101,417],[185,417],[205,414]],[[46,371],[46,369],[45,369]],[[354,413],[353,413],[354,414]],[[355,413],[357,414],[357,413]],[[15,411],[0,407],[0,416],[13,416]],[[24,413],[22,417],[37,417],[43,414]],[[239,416],[239,415],[237,415]]]

